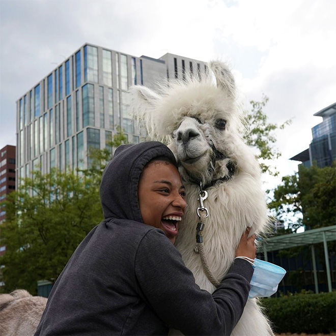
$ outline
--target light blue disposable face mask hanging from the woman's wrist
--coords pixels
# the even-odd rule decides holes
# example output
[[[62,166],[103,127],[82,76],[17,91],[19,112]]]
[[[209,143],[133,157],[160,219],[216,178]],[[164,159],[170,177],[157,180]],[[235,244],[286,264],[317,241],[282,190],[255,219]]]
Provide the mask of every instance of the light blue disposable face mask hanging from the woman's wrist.
[[[247,260],[254,268],[253,276],[250,281],[251,289],[248,297],[268,297],[277,291],[278,284],[283,280],[286,270],[280,266],[260,259],[250,259],[247,257],[238,257]]]

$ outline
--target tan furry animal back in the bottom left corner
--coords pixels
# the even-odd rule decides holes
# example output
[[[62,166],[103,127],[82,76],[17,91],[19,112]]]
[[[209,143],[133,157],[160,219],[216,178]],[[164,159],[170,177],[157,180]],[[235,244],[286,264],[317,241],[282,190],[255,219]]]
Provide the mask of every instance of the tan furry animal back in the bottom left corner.
[[[34,335],[46,303],[45,297],[32,296],[22,289],[0,294],[0,335]]]

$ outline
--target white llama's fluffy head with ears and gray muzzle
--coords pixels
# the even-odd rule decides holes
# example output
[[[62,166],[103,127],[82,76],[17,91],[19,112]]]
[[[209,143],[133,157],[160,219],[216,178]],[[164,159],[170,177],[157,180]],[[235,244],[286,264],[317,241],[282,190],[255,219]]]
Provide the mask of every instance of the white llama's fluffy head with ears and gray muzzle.
[[[215,76],[169,83],[158,92],[133,86],[132,113],[149,138],[169,143],[184,181],[203,186],[255,170],[255,160],[242,141],[244,127],[231,71],[210,62]]]

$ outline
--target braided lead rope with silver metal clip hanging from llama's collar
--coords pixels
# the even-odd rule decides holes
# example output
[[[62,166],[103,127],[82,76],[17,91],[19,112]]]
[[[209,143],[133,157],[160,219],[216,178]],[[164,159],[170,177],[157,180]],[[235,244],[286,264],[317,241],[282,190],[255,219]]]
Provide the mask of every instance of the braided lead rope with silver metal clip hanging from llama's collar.
[[[209,279],[209,281],[215,286],[218,287],[220,285],[220,282],[213,276],[208,260],[205,253],[204,248],[204,242],[203,242],[203,236],[202,231],[205,226],[205,219],[209,217],[209,210],[204,207],[203,201],[207,199],[208,193],[206,190],[203,190],[202,188],[202,182],[200,182],[200,192],[199,192],[199,198],[200,201],[200,207],[197,208],[197,216],[200,218],[200,221],[197,223],[196,227],[196,246],[194,248],[194,252],[200,254],[201,262],[203,265],[203,269],[205,272],[205,275]]]

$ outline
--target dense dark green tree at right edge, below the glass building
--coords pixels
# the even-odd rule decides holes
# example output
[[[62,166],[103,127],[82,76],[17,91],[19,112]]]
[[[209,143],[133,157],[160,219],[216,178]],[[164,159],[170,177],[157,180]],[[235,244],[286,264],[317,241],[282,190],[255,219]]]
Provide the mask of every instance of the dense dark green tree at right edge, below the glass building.
[[[304,226],[316,229],[335,224],[336,170],[331,167],[299,167],[294,175],[284,176],[275,188],[270,208],[278,219],[296,219],[289,223],[294,231]]]

